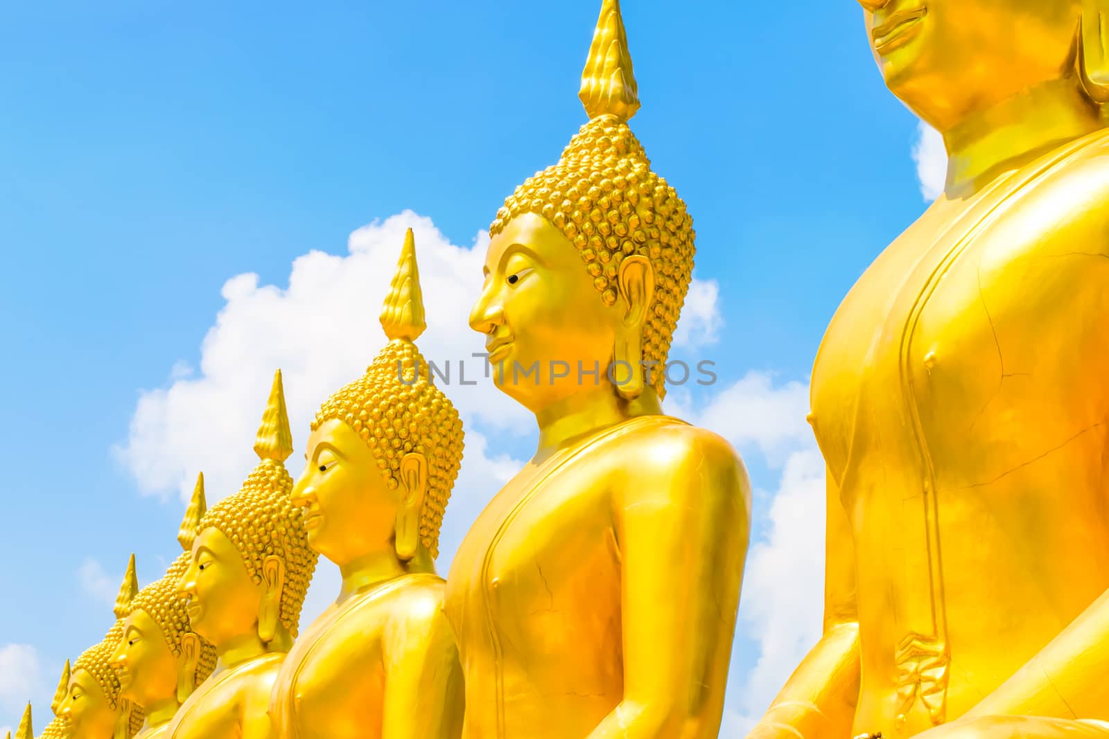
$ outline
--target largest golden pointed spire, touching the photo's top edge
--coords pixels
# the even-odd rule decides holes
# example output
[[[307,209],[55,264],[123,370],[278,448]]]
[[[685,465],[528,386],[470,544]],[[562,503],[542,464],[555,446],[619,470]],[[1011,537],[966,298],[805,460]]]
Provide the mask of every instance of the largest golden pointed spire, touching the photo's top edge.
[[[590,120],[608,113],[627,123],[639,110],[639,88],[631,69],[620,0],[601,0],[601,16],[581,72],[578,97]]]

